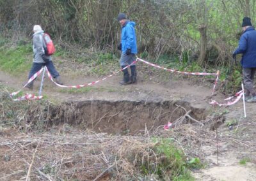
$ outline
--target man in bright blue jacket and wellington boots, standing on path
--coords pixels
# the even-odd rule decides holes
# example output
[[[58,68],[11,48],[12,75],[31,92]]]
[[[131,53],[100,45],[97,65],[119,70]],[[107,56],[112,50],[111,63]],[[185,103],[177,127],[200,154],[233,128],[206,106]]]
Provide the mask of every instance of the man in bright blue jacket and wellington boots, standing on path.
[[[137,54],[137,40],[136,40],[136,31],[135,31],[135,22],[127,20],[127,17],[124,13],[119,13],[117,17],[118,22],[122,25],[122,35],[121,43],[118,45],[118,50],[122,51],[120,66],[125,68],[132,62],[136,61]],[[120,82],[121,85],[126,85],[128,83],[137,82],[137,73],[136,65],[133,64],[131,67],[131,77],[129,75],[128,69],[124,69],[124,78]]]

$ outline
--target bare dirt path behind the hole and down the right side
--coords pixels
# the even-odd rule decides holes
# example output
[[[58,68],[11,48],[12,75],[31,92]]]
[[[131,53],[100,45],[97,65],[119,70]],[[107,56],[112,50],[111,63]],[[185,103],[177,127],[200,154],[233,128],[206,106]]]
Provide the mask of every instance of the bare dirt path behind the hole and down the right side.
[[[140,70],[139,70],[140,71]],[[211,99],[212,87],[209,83],[195,83],[188,80],[168,80],[166,82],[158,82],[153,80],[144,81],[139,74],[138,83],[136,85],[120,86],[118,82],[121,74],[113,76],[104,82],[100,82],[87,91],[68,93],[60,87],[56,87],[54,83],[45,78],[44,95],[47,98],[58,101],[82,101],[90,99],[99,100],[133,100],[133,101],[164,101],[164,100],[182,100],[188,101],[191,105],[198,108],[206,108],[209,112],[212,111],[212,106],[209,105]],[[80,83],[88,83],[97,80],[98,78],[70,78],[67,74],[63,75],[63,81],[68,85],[77,85]],[[14,78],[0,71],[0,82],[15,90],[22,87],[22,82],[26,80],[26,75],[20,78]],[[35,91],[25,92],[36,93],[40,85],[40,80],[35,82]],[[222,101],[223,96],[218,94],[214,99]],[[246,104],[247,115],[243,118],[243,103],[239,102],[229,108],[222,108],[226,114],[226,122],[236,120],[238,126],[233,129],[243,129],[241,133],[231,135],[227,126],[220,127],[220,150],[219,150],[219,165],[216,165],[216,143],[202,145],[202,150],[208,154],[205,158],[209,165],[207,168],[195,173],[196,180],[256,180],[256,143],[255,143],[255,128],[256,112],[254,104]],[[249,128],[250,129],[249,129]],[[231,135],[231,136],[230,136]],[[242,136],[241,136],[242,135]],[[244,137],[245,135],[245,137]],[[230,137],[228,137],[230,136]],[[233,139],[233,140],[232,140]],[[236,140],[236,141],[234,141]],[[246,150],[246,153],[244,153]],[[244,157],[251,157],[250,163],[246,166],[241,166],[239,160]]]

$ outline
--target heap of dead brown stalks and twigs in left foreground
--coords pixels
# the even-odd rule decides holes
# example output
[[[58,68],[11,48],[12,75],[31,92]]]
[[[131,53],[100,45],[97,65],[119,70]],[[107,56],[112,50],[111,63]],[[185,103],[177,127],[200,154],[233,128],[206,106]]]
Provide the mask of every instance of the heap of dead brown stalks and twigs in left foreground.
[[[0,137],[0,180],[126,180],[138,166],[159,164],[154,145],[144,136],[90,131]]]

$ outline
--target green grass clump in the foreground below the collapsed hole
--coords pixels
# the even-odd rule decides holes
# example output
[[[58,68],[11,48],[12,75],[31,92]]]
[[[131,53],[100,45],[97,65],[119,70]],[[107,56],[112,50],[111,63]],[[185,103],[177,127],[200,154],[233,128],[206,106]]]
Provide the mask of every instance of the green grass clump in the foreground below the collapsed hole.
[[[159,164],[143,164],[141,171],[145,175],[156,172],[163,180],[195,180],[189,169],[202,168],[199,158],[186,161],[184,153],[175,147],[172,138],[153,138],[156,142],[154,152],[158,157],[163,157]]]

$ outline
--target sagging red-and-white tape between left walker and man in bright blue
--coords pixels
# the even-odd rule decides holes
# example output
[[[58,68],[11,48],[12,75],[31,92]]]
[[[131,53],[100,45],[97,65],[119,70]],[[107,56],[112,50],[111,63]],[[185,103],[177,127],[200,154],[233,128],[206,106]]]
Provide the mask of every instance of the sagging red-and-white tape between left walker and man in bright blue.
[[[46,71],[47,71],[47,75],[48,77],[50,78],[50,80],[55,83],[56,85],[58,85],[59,87],[63,87],[63,88],[76,88],[76,89],[79,89],[81,87],[86,87],[86,86],[90,86],[90,85],[95,85],[96,83],[99,83],[101,82],[102,80],[106,80],[107,78],[113,76],[113,75],[116,75],[117,73],[119,73],[120,71],[123,71],[124,69],[127,69],[129,68],[130,66],[132,66],[133,64],[136,64],[137,60],[132,62],[131,64],[129,64],[128,66],[126,66],[125,68],[123,69],[120,69],[118,71],[116,71],[115,73],[109,75],[109,76],[106,76],[105,78],[102,78],[100,80],[97,80],[95,82],[91,82],[91,83],[85,83],[85,84],[82,84],[82,85],[60,85],[59,83],[55,82],[51,76],[51,73],[49,73],[48,69],[46,68]]]

